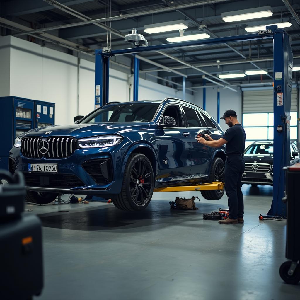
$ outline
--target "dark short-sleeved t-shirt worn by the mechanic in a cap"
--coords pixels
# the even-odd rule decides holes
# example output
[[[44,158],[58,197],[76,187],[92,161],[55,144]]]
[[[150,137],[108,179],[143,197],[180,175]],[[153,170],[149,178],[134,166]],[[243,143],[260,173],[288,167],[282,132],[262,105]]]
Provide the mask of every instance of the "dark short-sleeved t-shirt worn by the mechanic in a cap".
[[[226,154],[243,154],[245,150],[246,134],[241,124],[235,124],[229,127],[222,138],[226,144]]]

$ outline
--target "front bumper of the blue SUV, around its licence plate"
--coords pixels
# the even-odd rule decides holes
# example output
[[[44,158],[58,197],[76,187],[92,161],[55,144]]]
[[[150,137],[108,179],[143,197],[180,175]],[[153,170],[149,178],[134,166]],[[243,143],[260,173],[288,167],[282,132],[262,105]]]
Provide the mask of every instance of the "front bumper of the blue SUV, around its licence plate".
[[[24,174],[27,190],[113,197],[121,192],[123,181],[122,159],[126,149],[121,145],[76,149],[68,158],[56,159],[26,158],[19,148],[13,147],[10,166]],[[58,164],[58,173],[28,172],[28,163]],[[89,163],[92,164],[88,166]]]

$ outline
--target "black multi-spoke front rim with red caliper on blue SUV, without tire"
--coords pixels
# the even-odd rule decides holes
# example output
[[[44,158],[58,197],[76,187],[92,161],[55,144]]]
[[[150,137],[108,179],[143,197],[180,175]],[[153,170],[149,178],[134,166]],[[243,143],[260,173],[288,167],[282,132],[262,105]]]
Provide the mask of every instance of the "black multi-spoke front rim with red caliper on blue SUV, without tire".
[[[131,169],[129,189],[137,205],[144,205],[152,196],[153,176],[149,161],[140,158]]]

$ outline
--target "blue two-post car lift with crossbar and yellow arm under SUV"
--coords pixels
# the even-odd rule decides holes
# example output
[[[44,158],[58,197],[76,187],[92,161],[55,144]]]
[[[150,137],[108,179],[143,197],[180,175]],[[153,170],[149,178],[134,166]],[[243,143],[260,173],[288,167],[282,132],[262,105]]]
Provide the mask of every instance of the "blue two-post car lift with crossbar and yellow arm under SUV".
[[[266,30],[247,35],[236,35],[223,38],[209,38],[188,42],[170,43],[155,46],[136,47],[128,49],[95,50],[95,109],[108,103],[109,100],[109,60],[117,55],[134,55],[134,97],[138,100],[139,88],[139,59],[135,54],[164,49],[184,48],[200,45],[214,45],[231,42],[273,39],[274,56],[274,176],[273,176],[273,201],[265,217],[285,217],[286,204],[281,201],[285,196],[285,173],[282,168],[289,165],[290,141],[290,107],[292,90],[292,50],[289,35],[284,29],[277,29],[277,25],[267,26]],[[185,79],[185,78],[184,78]],[[185,91],[183,91],[184,93]],[[219,109],[218,109],[219,111]],[[191,191],[220,189],[219,183],[201,184],[195,186],[165,187],[155,191]]]

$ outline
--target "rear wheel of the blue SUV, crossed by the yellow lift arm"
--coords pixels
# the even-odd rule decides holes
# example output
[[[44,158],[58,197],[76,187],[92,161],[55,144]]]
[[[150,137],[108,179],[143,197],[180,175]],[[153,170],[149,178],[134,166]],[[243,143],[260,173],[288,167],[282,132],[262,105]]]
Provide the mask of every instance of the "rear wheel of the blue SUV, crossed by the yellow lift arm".
[[[207,182],[220,181],[225,182],[225,164],[222,158],[216,157],[211,165],[210,173]],[[223,190],[202,190],[201,195],[204,199],[219,200],[222,198],[225,189]]]

